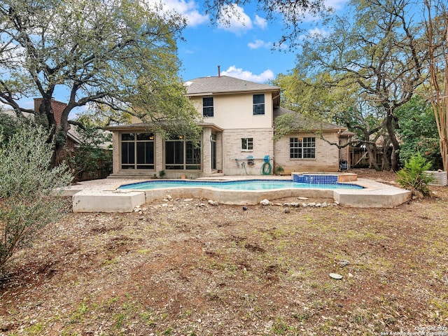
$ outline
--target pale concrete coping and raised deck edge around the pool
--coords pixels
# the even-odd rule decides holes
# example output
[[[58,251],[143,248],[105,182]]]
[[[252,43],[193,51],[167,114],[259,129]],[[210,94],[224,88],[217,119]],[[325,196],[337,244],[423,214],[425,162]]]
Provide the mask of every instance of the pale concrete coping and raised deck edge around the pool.
[[[286,179],[291,176],[217,176],[199,180],[235,181],[241,179]],[[332,198],[344,207],[392,208],[412,197],[409,190],[390,186],[370,179],[350,183],[364,189],[283,188],[276,190],[218,190],[207,187],[182,187],[153,190],[118,190],[123,184],[139,183],[148,179],[102,179],[85,181],[64,190],[64,196],[73,198],[73,212],[132,212],[142,204],[174,198],[204,198],[221,204],[253,205],[261,200],[287,197]]]

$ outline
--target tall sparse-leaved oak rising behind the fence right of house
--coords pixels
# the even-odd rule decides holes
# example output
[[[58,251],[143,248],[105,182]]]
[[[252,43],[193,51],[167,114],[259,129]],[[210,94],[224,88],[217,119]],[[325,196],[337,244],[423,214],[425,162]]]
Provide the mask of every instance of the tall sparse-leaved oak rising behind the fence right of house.
[[[335,82],[328,85],[357,85],[360,99],[383,109],[394,171],[400,150],[395,111],[426,80],[428,52],[421,25],[409,14],[412,6],[407,0],[353,0],[347,17],[329,18],[329,33],[308,36],[297,56],[299,71],[331,73]]]

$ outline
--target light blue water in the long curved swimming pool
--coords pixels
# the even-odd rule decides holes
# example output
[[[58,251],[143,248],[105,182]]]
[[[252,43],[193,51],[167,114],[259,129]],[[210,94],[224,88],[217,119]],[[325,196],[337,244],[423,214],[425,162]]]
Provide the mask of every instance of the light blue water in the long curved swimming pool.
[[[363,189],[350,183],[300,183],[292,180],[179,181],[162,180],[125,184],[118,189],[150,190],[181,187],[209,187],[221,190],[273,190],[282,188]]]

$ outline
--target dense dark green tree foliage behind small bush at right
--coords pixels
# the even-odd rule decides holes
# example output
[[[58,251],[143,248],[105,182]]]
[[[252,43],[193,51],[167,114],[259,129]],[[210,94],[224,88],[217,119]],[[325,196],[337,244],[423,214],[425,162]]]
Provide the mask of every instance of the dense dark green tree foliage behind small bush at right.
[[[422,153],[433,169],[443,168],[437,124],[432,106],[419,96],[403,105],[397,112],[398,134],[402,140],[400,158],[407,161]]]

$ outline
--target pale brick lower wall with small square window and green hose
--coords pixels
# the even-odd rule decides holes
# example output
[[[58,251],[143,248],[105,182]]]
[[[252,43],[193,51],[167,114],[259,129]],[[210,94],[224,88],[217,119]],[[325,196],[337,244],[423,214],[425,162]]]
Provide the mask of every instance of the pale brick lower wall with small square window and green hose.
[[[274,130],[239,129],[223,132],[223,172],[226,175],[260,175],[263,158],[274,155],[272,137]],[[253,138],[253,151],[241,150],[241,138]],[[252,155],[254,165],[248,165],[248,156]],[[238,162],[235,159],[239,159]],[[272,160],[271,160],[272,165]],[[242,165],[244,164],[244,165]]]

